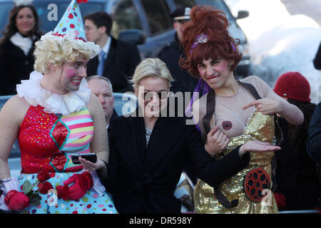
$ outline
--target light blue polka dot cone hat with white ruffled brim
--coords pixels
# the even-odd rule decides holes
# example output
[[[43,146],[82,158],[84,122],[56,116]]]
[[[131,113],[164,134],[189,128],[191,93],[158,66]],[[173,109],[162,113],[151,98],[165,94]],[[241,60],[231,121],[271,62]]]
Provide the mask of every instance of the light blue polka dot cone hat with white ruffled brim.
[[[67,39],[68,41],[77,43],[83,48],[90,49],[92,52],[90,58],[95,57],[100,48],[95,43],[87,41],[81,11],[78,6],[78,4],[87,1],[88,0],[72,0],[54,31],[46,33],[46,35],[41,37],[41,40],[50,38],[51,40],[62,42]]]

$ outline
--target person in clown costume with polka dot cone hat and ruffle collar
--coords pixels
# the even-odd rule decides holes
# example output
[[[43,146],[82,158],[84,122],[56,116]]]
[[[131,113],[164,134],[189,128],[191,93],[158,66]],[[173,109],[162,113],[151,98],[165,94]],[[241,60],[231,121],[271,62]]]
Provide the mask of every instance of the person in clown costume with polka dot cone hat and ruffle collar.
[[[96,165],[107,175],[106,123],[85,79],[86,63],[99,46],[86,41],[78,3],[71,1],[54,32],[36,43],[35,71],[1,110],[0,209],[117,213],[97,173],[71,161],[71,155],[95,152]],[[16,138],[22,167],[18,180],[8,167]]]

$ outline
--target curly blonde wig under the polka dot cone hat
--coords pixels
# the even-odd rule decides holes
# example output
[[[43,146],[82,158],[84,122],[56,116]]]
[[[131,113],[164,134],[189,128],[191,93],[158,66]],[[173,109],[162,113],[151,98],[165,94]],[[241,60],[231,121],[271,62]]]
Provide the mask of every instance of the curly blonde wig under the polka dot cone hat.
[[[49,63],[61,66],[66,62],[76,61],[78,57],[89,59],[93,55],[93,50],[84,48],[68,39],[61,41],[44,39],[35,43],[34,51],[35,63],[34,69],[40,73],[49,72]]]

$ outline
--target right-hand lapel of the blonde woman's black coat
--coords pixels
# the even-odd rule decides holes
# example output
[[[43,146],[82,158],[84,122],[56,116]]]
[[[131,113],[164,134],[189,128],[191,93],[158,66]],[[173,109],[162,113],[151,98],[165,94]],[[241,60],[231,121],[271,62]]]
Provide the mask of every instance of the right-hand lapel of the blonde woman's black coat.
[[[148,172],[166,155],[183,134],[179,118],[161,117],[155,123],[146,150],[144,171]]]

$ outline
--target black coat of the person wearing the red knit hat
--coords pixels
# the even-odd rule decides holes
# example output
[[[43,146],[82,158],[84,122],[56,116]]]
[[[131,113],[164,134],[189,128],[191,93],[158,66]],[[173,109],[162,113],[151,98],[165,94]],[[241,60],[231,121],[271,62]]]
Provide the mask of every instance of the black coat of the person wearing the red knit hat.
[[[281,150],[275,152],[277,160],[275,192],[280,192],[286,198],[286,205],[282,210],[315,209],[317,198],[320,197],[320,182],[316,172],[316,162],[311,159],[301,147],[298,154],[293,152],[288,136],[288,123],[284,118],[278,118],[283,133],[280,144]]]

